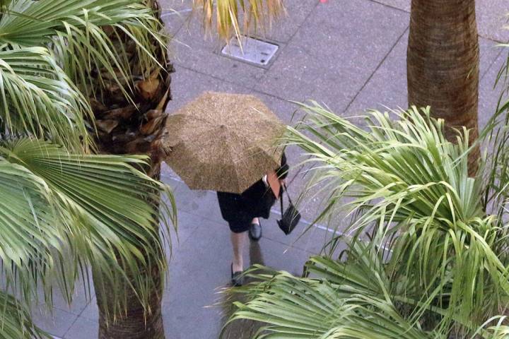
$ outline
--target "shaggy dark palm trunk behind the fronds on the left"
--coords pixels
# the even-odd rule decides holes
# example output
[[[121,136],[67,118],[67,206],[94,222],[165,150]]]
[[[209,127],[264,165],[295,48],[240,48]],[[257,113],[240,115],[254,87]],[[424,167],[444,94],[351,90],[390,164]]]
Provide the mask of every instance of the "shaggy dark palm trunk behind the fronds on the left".
[[[159,13],[157,1],[148,1],[156,13]],[[156,47],[155,54],[158,62],[165,66],[165,69],[156,67],[153,71],[148,72],[150,76],[144,76],[139,67],[140,63],[134,42],[118,30],[116,32],[106,30],[106,32],[109,33],[112,40],[116,40],[116,43],[121,46],[122,52],[127,52],[130,56],[129,64],[131,64],[133,76],[131,83],[134,84],[134,95],[129,100],[115,82],[111,82],[106,83],[103,88],[99,88],[95,97],[90,98],[96,126],[98,126],[96,143],[101,153],[149,155],[151,161],[148,174],[154,179],[159,179],[161,159],[158,145],[167,117],[166,105],[171,98],[172,64],[168,61],[166,51]],[[154,46],[158,46],[158,44],[154,42]],[[154,225],[154,227],[158,229],[159,225]],[[146,258],[146,262],[151,262],[150,258]],[[112,302],[108,302],[111,300],[110,290],[109,288],[101,289],[101,286],[104,287],[103,279],[98,274],[93,275],[99,308],[98,338],[165,338],[161,314],[163,278],[156,270],[146,272],[146,274],[150,275],[150,280],[155,285],[148,297],[150,311],[145,311],[139,298],[136,297],[134,291],[130,290],[126,300],[127,309],[124,309],[121,314],[112,312],[105,306],[112,304]]]

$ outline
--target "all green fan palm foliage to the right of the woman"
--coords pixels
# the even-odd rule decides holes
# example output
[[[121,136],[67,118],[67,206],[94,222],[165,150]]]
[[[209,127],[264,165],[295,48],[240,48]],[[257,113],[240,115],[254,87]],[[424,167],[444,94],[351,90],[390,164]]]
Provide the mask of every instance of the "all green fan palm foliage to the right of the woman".
[[[346,259],[313,257],[304,278],[252,270],[261,283],[240,290],[249,300],[233,320],[267,323],[256,338],[506,338],[507,117],[469,177],[469,131],[451,143],[429,109],[370,112],[366,129],[304,109],[310,118],[286,142],[318,164],[322,218],[351,215]]]

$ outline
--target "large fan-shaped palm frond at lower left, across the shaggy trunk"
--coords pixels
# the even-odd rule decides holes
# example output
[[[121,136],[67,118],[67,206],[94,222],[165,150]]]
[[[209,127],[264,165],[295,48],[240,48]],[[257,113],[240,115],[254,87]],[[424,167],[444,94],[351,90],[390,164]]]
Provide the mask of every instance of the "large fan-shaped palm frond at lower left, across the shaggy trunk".
[[[0,257],[8,288],[26,302],[37,283],[46,297],[57,286],[70,298],[78,273],[90,264],[103,273],[104,284],[119,287],[110,305],[116,312],[126,284],[146,302],[153,283],[141,272],[164,274],[166,267],[154,225],[161,217],[168,229],[175,204],[165,186],[134,169],[144,166],[144,157],[71,155],[28,139],[4,143],[0,156],[7,183],[1,188]],[[171,208],[160,201],[161,192]],[[126,272],[139,278],[126,282]]]

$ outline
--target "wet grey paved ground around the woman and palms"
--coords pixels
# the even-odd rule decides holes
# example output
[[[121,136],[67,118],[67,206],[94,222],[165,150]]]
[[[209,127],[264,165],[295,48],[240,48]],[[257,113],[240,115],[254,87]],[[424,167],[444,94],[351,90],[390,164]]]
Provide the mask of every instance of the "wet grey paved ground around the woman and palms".
[[[258,33],[279,45],[267,67],[223,57],[223,42],[204,38],[199,20],[189,11],[189,0],[163,0],[163,19],[174,39],[170,46],[176,73],[168,112],[182,107],[204,90],[252,93],[260,97],[286,123],[296,109],[288,100],[324,102],[336,114],[354,117],[363,109],[406,106],[406,40],[410,0],[286,0],[288,16],[272,30]],[[481,45],[479,121],[486,123],[498,100],[493,90],[507,52],[496,47],[509,39],[503,30],[509,4],[504,0],[477,1]],[[175,9],[171,11],[170,8]],[[297,114],[299,117],[299,114]],[[355,119],[355,118],[352,118]],[[293,165],[290,191],[305,187],[303,160],[296,148],[288,150]],[[172,186],[178,206],[178,241],[172,237],[169,280],[163,299],[166,337],[218,338],[231,306],[223,292],[230,277],[229,230],[213,192],[190,191],[163,167],[164,182]],[[300,210],[312,220],[320,210],[320,195],[306,198]],[[277,207],[277,206],[276,206]],[[251,242],[245,262],[263,263],[300,275],[309,256],[331,237],[327,227],[307,228],[305,222],[286,237],[277,227],[277,208],[262,220],[264,237]],[[337,223],[341,230],[341,222]],[[43,309],[43,305],[40,306]],[[58,296],[52,315],[34,310],[38,324],[57,338],[97,338],[95,298],[76,292],[69,307]],[[253,323],[228,328],[229,338],[250,338]]]

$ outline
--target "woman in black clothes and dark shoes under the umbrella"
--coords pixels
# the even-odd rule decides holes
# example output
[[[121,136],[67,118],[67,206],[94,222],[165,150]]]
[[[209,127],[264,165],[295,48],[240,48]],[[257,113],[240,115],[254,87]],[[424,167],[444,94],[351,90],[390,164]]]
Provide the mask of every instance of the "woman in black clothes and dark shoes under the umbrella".
[[[230,226],[230,240],[233,247],[231,263],[233,286],[241,286],[243,283],[242,253],[247,242],[246,235],[249,234],[250,239],[254,241],[262,237],[262,225],[259,218],[269,218],[270,209],[276,198],[281,195],[287,174],[288,165],[286,155],[283,153],[279,168],[264,175],[241,194],[217,192],[221,215]]]

